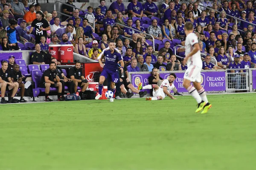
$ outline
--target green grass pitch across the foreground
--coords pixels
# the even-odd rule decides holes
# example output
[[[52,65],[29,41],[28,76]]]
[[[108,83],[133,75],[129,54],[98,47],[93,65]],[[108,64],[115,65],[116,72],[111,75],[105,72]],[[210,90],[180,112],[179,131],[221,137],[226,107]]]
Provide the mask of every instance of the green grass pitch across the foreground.
[[[255,94],[0,105],[0,170],[255,170]]]

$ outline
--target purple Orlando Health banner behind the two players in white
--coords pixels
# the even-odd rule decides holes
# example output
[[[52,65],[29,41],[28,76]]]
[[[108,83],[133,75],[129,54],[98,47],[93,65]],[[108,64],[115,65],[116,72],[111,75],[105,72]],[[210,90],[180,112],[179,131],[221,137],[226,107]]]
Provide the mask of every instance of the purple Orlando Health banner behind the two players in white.
[[[178,92],[187,92],[187,90],[182,85],[184,73],[175,73],[175,74],[176,74],[176,79],[175,79],[174,85],[177,88]],[[131,82],[135,88],[138,87],[140,82],[143,83],[143,86],[148,85],[148,77],[150,76],[151,74],[131,74]],[[160,73],[160,77],[162,77],[163,79],[168,79],[169,73]],[[224,71],[202,72],[201,85],[204,87],[205,91],[226,91],[225,72]]]

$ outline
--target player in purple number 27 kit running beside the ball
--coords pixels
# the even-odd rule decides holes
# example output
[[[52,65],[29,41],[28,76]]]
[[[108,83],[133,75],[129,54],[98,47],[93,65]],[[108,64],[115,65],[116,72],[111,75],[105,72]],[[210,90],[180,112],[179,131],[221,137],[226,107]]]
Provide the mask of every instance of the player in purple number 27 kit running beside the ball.
[[[102,57],[99,59],[99,65],[103,68],[102,74],[99,77],[99,94],[95,97],[96,100],[98,100],[102,96],[102,88],[103,88],[103,82],[106,78],[110,78],[110,88],[113,94],[115,94],[115,83],[119,81],[119,73],[117,72],[118,68],[118,62],[121,64],[120,70],[121,73],[123,72],[123,67],[125,63],[123,62],[121,54],[119,54],[115,50],[115,43],[113,40],[110,40],[108,42],[109,50],[105,50],[102,54]],[[105,57],[105,65],[102,63],[102,59]],[[111,98],[110,102],[113,102],[114,99]]]

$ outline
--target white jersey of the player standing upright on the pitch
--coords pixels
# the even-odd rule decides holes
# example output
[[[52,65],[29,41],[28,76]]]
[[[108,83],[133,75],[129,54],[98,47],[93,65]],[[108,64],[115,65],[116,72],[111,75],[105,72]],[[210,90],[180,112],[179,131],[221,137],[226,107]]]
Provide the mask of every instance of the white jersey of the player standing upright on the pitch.
[[[185,55],[189,54],[193,50],[193,45],[198,43],[198,38],[195,33],[190,33],[186,37],[185,41]],[[195,65],[197,67],[202,68],[202,60],[201,60],[201,53],[200,50],[198,50],[197,53],[195,53],[192,57],[188,59],[187,66]]]

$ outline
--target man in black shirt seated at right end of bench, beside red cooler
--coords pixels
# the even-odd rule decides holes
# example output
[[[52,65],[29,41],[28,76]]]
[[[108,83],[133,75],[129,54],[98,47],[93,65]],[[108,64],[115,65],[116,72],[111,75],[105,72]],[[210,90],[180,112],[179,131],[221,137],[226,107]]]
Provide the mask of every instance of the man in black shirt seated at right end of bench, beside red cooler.
[[[79,95],[81,99],[85,99],[83,97],[83,94],[84,91],[87,89],[89,83],[87,79],[84,78],[83,69],[81,68],[81,62],[76,62],[76,65],[69,69],[69,76],[70,79],[72,79],[74,82],[75,92],[77,91],[77,86],[82,88]]]

